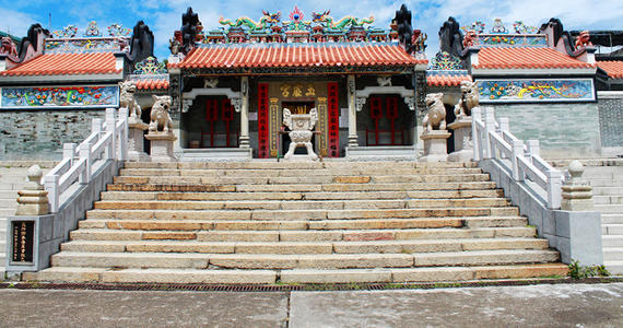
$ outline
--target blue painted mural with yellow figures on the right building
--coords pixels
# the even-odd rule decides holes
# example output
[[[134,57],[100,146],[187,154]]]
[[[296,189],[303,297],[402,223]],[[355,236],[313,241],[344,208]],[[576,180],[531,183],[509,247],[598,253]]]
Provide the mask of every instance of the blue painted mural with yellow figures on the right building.
[[[591,102],[592,79],[478,80],[481,103]]]

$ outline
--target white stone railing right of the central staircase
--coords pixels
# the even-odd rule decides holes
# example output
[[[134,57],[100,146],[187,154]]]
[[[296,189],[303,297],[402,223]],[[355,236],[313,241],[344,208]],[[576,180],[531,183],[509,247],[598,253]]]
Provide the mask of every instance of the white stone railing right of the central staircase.
[[[533,184],[532,189],[544,196],[549,209],[561,207],[563,173],[551,166],[539,155],[539,141],[528,140],[524,144],[509,131],[508,118],[495,120],[492,107],[472,112],[472,136],[474,161],[496,159],[512,172],[515,181],[527,178]]]

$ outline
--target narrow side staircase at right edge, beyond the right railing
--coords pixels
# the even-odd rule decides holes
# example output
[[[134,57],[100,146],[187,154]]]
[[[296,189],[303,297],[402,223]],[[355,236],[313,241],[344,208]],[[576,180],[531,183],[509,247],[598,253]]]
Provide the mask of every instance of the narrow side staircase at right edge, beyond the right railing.
[[[601,212],[603,263],[612,274],[623,274],[623,166],[589,166],[595,209]]]

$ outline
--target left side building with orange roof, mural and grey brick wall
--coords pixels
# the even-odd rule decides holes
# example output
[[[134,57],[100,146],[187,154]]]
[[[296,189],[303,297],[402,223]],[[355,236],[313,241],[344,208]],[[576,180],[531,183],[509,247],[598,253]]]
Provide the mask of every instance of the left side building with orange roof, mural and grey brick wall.
[[[79,33],[69,25],[50,33],[39,24],[19,39],[3,37],[0,51],[0,159],[52,160],[64,142],[91,130],[91,118],[119,106],[119,83],[136,81],[149,118],[152,93],[167,93],[168,73],[153,58],[153,34],[95,22]]]

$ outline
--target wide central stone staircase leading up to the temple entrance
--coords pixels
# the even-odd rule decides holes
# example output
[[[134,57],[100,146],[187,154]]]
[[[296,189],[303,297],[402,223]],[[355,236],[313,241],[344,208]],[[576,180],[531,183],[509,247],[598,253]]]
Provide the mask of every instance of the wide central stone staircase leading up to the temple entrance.
[[[319,283],[564,276],[473,163],[127,163],[24,280]]]

